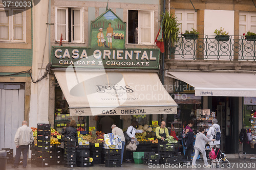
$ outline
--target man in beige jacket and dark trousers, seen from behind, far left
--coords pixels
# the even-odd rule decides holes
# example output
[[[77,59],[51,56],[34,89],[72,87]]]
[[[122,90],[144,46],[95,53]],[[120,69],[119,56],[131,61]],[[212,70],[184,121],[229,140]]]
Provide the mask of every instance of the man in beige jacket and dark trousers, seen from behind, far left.
[[[23,167],[27,167],[27,155],[29,151],[29,144],[34,140],[33,131],[28,127],[28,122],[24,120],[22,127],[19,127],[14,137],[16,145],[16,156],[13,167],[18,167],[20,154],[23,153]]]

